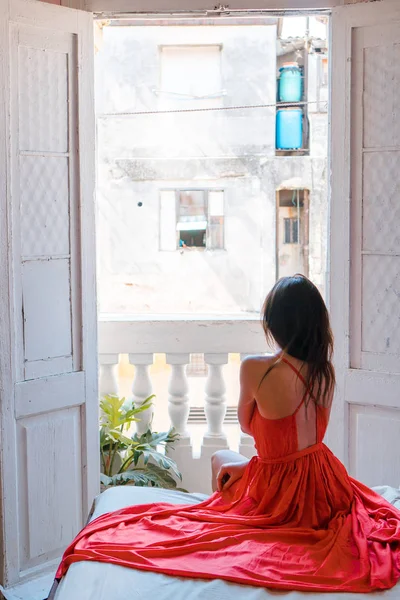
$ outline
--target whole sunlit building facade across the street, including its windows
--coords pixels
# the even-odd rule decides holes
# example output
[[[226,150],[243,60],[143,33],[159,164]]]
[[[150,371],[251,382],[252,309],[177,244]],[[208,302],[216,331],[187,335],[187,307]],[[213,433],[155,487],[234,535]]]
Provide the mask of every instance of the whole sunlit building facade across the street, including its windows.
[[[285,21],[103,27],[100,312],[254,314],[297,271],[324,292],[325,26],[283,39]],[[276,148],[288,62],[303,77],[303,142],[290,152]]]

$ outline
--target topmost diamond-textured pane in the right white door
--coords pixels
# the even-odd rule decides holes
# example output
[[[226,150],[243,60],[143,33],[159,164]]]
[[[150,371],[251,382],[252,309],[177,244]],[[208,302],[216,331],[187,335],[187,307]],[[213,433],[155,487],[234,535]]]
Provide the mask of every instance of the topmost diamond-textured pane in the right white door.
[[[364,147],[398,146],[400,44],[364,51]]]

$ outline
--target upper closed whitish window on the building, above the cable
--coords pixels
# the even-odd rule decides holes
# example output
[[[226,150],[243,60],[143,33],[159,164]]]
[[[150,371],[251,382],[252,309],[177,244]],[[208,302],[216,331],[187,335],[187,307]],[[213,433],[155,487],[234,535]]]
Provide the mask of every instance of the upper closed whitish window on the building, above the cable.
[[[222,106],[221,46],[163,46],[160,62],[160,108]]]

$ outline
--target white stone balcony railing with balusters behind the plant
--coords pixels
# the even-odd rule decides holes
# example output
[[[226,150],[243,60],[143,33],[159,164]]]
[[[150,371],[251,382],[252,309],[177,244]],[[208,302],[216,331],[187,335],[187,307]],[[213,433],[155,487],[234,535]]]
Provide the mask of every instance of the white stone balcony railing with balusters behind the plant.
[[[211,490],[211,456],[216,450],[228,448],[224,431],[226,382],[223,367],[228,363],[229,354],[244,357],[266,352],[260,322],[252,318],[148,319],[100,316],[100,394],[119,393],[117,368],[120,355],[125,354],[135,367],[132,397],[135,405],[141,405],[153,393],[150,366],[154,356],[165,354],[166,362],[170,365],[170,378],[165,394],[168,398],[168,414],[170,424],[180,434],[173,457],[182,471],[182,485],[190,491],[208,493]],[[207,365],[204,394],[207,431],[203,435],[198,458],[193,455],[188,428],[190,402],[185,368],[190,362],[191,354],[203,354]],[[142,413],[142,419],[137,423],[139,432],[149,426],[153,417],[152,410]],[[165,428],[167,427],[168,423],[165,423]],[[254,454],[250,436],[240,435],[239,451],[248,457]]]

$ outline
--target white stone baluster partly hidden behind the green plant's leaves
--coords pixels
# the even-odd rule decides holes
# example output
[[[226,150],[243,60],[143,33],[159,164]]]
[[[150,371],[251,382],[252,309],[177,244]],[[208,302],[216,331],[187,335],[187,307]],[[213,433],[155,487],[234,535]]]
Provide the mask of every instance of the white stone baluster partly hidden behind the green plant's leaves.
[[[135,367],[135,375],[132,383],[132,400],[136,407],[142,406],[143,402],[152,395],[152,385],[149,375],[149,366],[153,364],[152,354],[130,354],[129,362]],[[150,427],[153,419],[153,406],[138,415],[136,431],[140,435]]]

